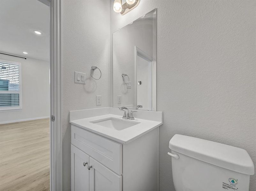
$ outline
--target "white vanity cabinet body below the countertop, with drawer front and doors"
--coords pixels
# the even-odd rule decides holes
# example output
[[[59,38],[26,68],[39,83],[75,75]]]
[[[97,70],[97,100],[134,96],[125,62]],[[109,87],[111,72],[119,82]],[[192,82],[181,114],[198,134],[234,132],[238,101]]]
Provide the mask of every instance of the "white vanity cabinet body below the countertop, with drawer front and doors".
[[[158,128],[121,144],[71,125],[71,190],[158,190]]]

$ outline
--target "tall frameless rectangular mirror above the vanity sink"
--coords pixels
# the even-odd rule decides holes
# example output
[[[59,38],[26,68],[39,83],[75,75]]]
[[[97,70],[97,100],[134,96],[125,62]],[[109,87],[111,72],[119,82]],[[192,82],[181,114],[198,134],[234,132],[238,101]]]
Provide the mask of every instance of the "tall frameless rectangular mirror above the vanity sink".
[[[156,9],[113,33],[113,107],[156,111]]]

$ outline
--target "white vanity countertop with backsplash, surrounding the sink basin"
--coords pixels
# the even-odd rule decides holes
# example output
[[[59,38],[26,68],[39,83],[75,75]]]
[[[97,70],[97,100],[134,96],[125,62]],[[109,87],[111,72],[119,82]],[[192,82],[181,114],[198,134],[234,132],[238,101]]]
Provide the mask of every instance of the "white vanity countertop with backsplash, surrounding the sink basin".
[[[100,111],[100,112],[98,112]],[[79,111],[71,111],[70,113],[70,123],[87,131],[93,132],[95,134],[101,135],[103,137],[109,138],[111,140],[117,141],[122,144],[127,144],[136,138],[141,137],[142,135],[146,134],[149,131],[152,131],[156,127],[160,126],[162,123],[162,112],[157,111],[143,111],[143,110],[136,110],[135,120],[128,120],[122,119],[123,112],[119,111],[118,108],[99,108],[99,109],[91,109],[91,110],[80,110]],[[81,114],[83,112],[83,114]],[[148,117],[154,120],[145,119],[147,117],[146,112],[148,113]],[[155,113],[152,113],[155,112]],[[103,115],[97,116],[96,113],[100,113]],[[116,113],[120,113],[120,115],[116,115]],[[80,119],[76,119],[77,115],[79,115]],[[104,115],[105,114],[105,115]],[[135,114],[135,113],[134,113]],[[151,117],[151,115],[155,114],[155,117]],[[96,115],[91,117],[92,115]],[[121,116],[122,115],[122,116]],[[81,116],[88,116],[86,118],[81,118]],[[141,118],[138,118],[140,117]],[[135,124],[131,127],[123,129],[121,131],[117,131],[115,129],[107,128],[98,124],[91,123],[92,121],[101,120],[105,118],[117,118],[120,120],[128,120],[130,122],[137,122],[139,124]],[[142,119],[143,118],[143,119]],[[74,119],[74,120],[72,120]]]

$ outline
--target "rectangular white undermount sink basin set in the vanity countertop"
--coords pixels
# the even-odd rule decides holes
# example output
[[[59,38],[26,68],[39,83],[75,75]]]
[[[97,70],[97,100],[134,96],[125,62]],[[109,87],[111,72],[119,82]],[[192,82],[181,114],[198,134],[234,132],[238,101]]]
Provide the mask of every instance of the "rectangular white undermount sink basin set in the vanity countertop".
[[[117,119],[117,118],[105,118],[97,121],[90,121],[90,123],[101,125],[110,129],[115,129],[117,131],[121,131],[128,127],[132,127],[133,125],[139,124],[138,122],[128,121],[127,119]]]

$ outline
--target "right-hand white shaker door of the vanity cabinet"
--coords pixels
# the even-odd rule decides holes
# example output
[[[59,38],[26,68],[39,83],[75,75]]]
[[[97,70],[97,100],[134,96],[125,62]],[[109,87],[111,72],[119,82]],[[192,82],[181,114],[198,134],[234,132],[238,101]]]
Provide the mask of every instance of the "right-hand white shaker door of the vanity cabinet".
[[[90,191],[122,191],[122,176],[90,157]]]

